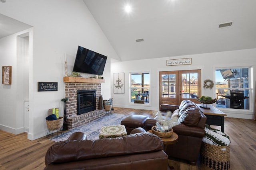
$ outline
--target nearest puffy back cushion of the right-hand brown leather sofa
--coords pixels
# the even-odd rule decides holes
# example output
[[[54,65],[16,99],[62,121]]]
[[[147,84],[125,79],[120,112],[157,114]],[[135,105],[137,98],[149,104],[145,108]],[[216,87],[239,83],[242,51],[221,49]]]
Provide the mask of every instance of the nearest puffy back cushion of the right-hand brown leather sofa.
[[[190,107],[183,111],[180,115],[178,122],[188,126],[196,126],[201,118],[201,114],[196,107]]]

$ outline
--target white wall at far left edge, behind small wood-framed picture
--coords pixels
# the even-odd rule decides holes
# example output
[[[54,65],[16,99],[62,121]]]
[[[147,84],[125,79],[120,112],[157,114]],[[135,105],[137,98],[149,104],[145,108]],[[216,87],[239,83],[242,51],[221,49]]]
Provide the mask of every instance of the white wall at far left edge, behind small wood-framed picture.
[[[12,84],[0,84],[0,125],[1,129],[9,129],[11,133],[16,133],[19,128],[16,123],[16,88],[17,88],[17,62],[16,62],[16,37],[5,37],[0,39],[0,68],[2,66],[12,66]],[[1,79],[2,81],[2,79]]]

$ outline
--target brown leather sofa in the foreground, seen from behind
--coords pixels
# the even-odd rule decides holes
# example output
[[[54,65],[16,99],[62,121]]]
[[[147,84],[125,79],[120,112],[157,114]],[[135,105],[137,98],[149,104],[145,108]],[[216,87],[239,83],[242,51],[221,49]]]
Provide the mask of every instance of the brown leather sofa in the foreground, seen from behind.
[[[52,145],[45,156],[45,170],[169,170],[168,156],[159,137],[136,128],[124,137],[86,140],[73,133]]]

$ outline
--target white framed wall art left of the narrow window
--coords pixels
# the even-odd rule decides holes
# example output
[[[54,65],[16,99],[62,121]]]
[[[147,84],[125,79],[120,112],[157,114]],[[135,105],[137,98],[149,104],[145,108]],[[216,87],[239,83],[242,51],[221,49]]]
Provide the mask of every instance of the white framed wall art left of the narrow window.
[[[114,73],[114,93],[124,94],[124,72]]]

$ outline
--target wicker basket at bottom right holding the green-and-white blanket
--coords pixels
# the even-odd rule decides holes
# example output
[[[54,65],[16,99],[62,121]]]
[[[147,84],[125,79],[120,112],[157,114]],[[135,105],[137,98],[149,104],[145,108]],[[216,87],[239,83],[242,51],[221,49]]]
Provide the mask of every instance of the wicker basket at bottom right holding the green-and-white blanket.
[[[230,145],[216,146],[202,142],[200,162],[212,170],[230,170]]]

